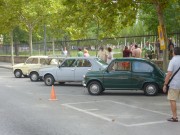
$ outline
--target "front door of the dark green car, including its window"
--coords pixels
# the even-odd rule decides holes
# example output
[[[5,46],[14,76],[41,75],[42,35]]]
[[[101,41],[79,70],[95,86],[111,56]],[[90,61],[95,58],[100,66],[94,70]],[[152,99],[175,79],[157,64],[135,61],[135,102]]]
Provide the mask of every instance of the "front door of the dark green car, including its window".
[[[113,61],[104,73],[105,88],[129,89],[131,87],[131,62]]]

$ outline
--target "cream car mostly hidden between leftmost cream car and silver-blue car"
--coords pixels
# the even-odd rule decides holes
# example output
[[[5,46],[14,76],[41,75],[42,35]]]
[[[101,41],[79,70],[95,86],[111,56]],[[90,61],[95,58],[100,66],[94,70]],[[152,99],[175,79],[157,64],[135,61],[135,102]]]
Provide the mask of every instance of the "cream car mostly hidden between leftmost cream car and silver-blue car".
[[[41,66],[29,68],[27,75],[32,82],[36,82],[40,79],[39,78],[40,69],[58,66],[63,62],[64,59],[65,59],[64,57],[48,57],[46,58],[46,62],[44,64],[41,64]]]

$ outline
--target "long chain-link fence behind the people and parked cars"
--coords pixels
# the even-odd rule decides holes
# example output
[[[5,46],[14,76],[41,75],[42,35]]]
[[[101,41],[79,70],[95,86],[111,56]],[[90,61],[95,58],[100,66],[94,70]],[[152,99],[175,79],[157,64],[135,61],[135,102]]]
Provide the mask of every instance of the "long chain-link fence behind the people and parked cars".
[[[175,46],[180,46],[180,33],[168,34],[169,38],[172,38]],[[32,55],[62,55],[63,48],[67,48],[70,56],[75,56],[78,48],[86,48],[89,51],[97,52],[100,46],[111,46],[113,49],[122,51],[124,46],[130,46],[133,43],[138,44],[139,47],[143,48],[145,43],[149,43],[156,49],[157,35],[143,35],[143,36],[126,36],[116,38],[104,38],[102,40],[97,39],[86,39],[86,40],[70,40],[70,41],[48,41],[33,43],[33,54]],[[14,55],[29,56],[30,49],[28,44],[14,44]],[[93,53],[96,55],[97,53]],[[10,45],[0,45],[0,55],[11,55]]]

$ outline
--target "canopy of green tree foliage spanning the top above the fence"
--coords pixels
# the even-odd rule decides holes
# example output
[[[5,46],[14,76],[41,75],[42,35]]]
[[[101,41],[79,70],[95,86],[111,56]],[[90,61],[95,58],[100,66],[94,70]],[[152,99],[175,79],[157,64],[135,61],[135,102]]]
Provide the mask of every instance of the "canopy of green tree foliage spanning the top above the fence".
[[[25,31],[30,30],[34,41],[43,41],[44,26],[47,40],[156,33],[158,4],[164,11],[167,31],[179,32],[179,0],[0,0],[0,32],[23,29],[14,30],[16,42],[27,42]]]

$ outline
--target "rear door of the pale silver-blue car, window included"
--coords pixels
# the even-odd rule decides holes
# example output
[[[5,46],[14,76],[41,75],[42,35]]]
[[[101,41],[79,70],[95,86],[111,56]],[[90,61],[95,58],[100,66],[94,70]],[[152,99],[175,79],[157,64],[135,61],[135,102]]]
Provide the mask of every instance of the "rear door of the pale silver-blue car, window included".
[[[83,75],[92,70],[92,64],[87,59],[78,59],[75,67],[75,81],[82,81]]]

